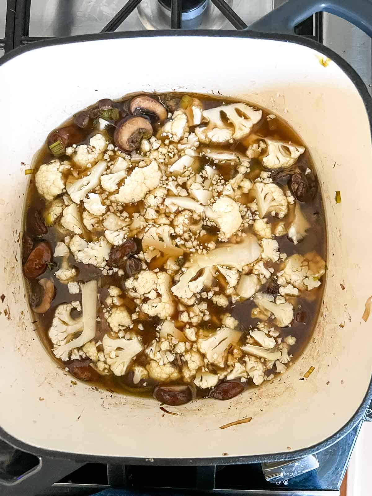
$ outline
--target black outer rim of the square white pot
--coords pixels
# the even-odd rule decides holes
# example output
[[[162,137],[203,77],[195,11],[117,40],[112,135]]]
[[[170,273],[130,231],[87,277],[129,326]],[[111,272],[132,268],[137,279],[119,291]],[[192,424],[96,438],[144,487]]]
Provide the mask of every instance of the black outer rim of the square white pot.
[[[123,33],[100,33],[100,34],[89,34],[89,35],[78,35],[78,36],[70,36],[66,38],[53,38],[51,40],[42,40],[30,43],[26,46],[22,46],[19,48],[15,48],[10,53],[5,54],[0,59],[0,66],[5,64],[7,61],[22,55],[29,50],[35,50],[37,48],[43,48],[48,46],[55,45],[64,45],[69,43],[76,42],[85,42],[85,41],[98,41],[105,39],[122,39],[122,38],[143,38],[143,37],[166,37],[166,36],[212,36],[219,38],[251,38],[251,39],[259,39],[259,40],[277,40],[288,43],[296,43],[301,46],[305,46],[307,48],[316,50],[317,52],[323,54],[325,57],[328,57],[333,62],[337,63],[337,65],[345,72],[345,74],[349,77],[349,79],[353,82],[356,89],[358,90],[361,98],[363,99],[365,108],[367,110],[367,114],[370,122],[371,129],[371,139],[372,139],[372,99],[362,81],[361,77],[358,73],[353,69],[353,67],[346,61],[344,61],[338,54],[333,52],[327,47],[324,47],[320,43],[310,39],[304,38],[298,35],[292,34],[272,34],[272,33],[258,33],[254,31],[228,31],[228,30],[160,30],[160,31],[129,31]],[[351,417],[351,419],[335,434],[330,437],[324,439],[318,444],[309,446],[307,448],[299,449],[291,452],[282,452],[282,453],[272,453],[266,455],[249,455],[249,456],[231,456],[231,457],[213,457],[213,458],[157,458],[157,459],[149,459],[149,458],[131,458],[131,457],[106,457],[106,456],[91,456],[84,454],[75,454],[75,453],[63,453],[60,451],[48,450],[39,448],[36,446],[29,445],[22,441],[19,441],[11,434],[8,434],[0,427],[0,437],[4,439],[9,444],[21,449],[22,451],[27,451],[33,453],[37,456],[48,459],[54,459],[56,466],[59,464],[59,459],[69,458],[71,460],[75,460],[78,462],[102,462],[102,463],[114,463],[114,464],[122,464],[122,465],[230,465],[230,464],[244,464],[244,463],[257,463],[257,462],[267,462],[267,461],[283,461],[295,458],[301,458],[303,456],[307,456],[308,454],[321,451],[335,442],[337,442],[344,435],[349,433],[359,422],[361,422],[366,414],[366,411],[371,403],[372,399],[372,377],[370,380],[369,387],[367,389],[366,395],[356,410],[355,414]]]

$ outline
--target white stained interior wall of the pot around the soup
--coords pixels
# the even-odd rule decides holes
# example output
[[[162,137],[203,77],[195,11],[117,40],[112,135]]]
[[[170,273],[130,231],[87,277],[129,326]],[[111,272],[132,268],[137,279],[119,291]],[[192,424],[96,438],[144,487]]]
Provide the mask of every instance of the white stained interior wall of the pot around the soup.
[[[5,431],[31,445],[72,453],[201,458],[290,452],[322,441],[351,418],[372,368],[372,317],[362,320],[372,295],[371,135],[356,88],[334,62],[324,67],[321,58],[279,41],[154,37],[45,47],[0,67]],[[24,169],[51,129],[103,97],[171,90],[248,100],[272,110],[302,136],[323,192],[328,271],[313,337],[288,372],[231,401],[197,400],[172,408],[178,416],[163,416],[155,400],[71,385],[33,329],[19,238],[29,181]],[[299,380],[310,366],[314,372]],[[252,421],[219,429],[244,417]]]

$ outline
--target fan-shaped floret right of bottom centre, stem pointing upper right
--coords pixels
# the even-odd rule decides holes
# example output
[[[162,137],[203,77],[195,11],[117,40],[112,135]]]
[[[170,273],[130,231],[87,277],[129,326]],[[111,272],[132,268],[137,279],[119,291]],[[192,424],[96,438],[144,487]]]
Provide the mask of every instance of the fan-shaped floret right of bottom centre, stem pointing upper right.
[[[199,337],[197,349],[206,356],[208,362],[224,367],[228,348],[236,344],[242,333],[229,327],[221,327],[207,337]]]

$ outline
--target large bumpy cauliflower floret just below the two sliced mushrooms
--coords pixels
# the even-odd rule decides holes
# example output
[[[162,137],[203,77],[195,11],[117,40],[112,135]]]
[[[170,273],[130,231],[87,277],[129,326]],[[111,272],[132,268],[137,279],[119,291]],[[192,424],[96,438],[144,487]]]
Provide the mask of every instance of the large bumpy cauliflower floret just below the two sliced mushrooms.
[[[119,203],[135,203],[143,200],[151,189],[159,185],[161,177],[162,173],[155,160],[146,167],[136,167],[112,198]]]

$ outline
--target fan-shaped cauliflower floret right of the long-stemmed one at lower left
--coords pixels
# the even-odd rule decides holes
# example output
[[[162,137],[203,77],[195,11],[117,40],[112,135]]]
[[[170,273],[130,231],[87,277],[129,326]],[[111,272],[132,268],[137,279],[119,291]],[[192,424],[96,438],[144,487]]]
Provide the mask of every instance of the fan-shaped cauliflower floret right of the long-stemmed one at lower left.
[[[115,375],[124,375],[133,358],[144,349],[137,336],[132,336],[131,339],[112,339],[105,334],[102,345],[106,362]]]

